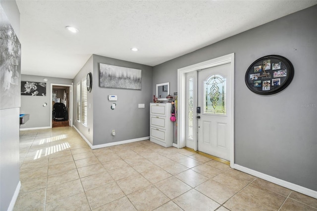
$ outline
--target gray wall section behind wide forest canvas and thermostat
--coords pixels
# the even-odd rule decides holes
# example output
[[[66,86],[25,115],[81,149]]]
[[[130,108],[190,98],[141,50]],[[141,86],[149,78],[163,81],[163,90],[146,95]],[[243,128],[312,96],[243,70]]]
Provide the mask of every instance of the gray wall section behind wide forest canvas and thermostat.
[[[151,66],[94,56],[94,145],[137,139],[150,136],[150,103],[152,102]],[[111,89],[99,87],[99,63],[142,70],[142,90]],[[117,95],[116,108],[111,110],[109,95]],[[138,108],[145,104],[145,108]],[[115,136],[111,135],[112,129]]]

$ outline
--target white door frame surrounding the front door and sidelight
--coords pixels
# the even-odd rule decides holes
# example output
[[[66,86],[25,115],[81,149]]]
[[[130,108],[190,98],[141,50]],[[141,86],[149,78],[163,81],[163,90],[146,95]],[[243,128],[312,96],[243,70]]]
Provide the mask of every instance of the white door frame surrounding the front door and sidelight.
[[[230,143],[230,167],[234,166],[234,53],[223,55],[217,58],[213,58],[207,61],[203,61],[197,64],[193,64],[187,67],[177,69],[177,93],[178,93],[178,104],[177,104],[177,147],[183,148],[186,146],[186,73],[191,71],[197,71],[206,69],[222,64],[230,63],[231,73],[231,133]],[[197,150],[197,140],[195,141],[195,150]]]

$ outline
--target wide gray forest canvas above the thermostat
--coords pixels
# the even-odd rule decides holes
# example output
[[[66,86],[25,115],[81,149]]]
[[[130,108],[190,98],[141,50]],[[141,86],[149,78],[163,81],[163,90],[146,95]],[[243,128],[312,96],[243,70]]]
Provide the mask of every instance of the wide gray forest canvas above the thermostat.
[[[100,87],[141,90],[141,70],[100,63]]]

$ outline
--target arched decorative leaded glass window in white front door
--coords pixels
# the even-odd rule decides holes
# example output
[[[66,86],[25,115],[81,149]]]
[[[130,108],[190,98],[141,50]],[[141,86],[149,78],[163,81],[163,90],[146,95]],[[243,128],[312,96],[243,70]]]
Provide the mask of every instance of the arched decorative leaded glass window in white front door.
[[[211,75],[204,85],[204,113],[226,115],[226,78]]]

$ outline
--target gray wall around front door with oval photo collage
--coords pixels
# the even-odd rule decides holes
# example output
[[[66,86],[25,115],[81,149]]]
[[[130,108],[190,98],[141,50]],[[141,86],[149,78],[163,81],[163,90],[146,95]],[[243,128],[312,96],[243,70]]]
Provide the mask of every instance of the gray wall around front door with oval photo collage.
[[[235,53],[235,163],[317,191],[317,6],[296,12],[154,67],[155,84],[171,82],[177,69]],[[282,55],[294,65],[292,83],[260,96],[245,84],[256,59]]]

